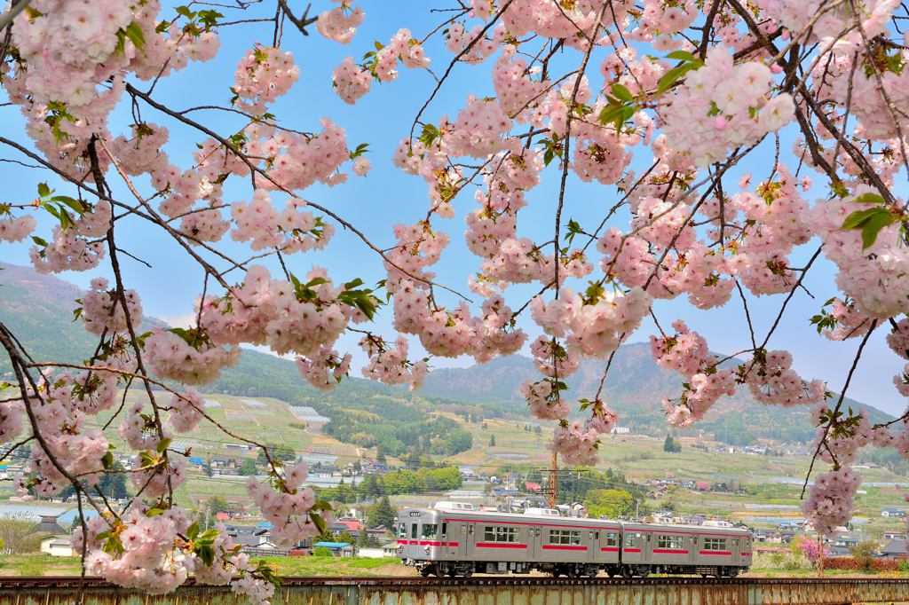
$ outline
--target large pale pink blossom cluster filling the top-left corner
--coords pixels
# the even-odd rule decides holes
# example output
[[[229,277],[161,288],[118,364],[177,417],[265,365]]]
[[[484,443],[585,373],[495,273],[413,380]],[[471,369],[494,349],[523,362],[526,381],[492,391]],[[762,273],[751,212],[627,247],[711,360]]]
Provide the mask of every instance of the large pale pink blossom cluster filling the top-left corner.
[[[220,46],[215,32],[195,25],[175,20],[157,27],[157,0],[143,5],[107,0],[91,6],[79,0],[39,0],[31,9],[13,24],[18,64],[9,73],[4,64],[0,77],[29,121],[26,132],[50,163],[90,182],[94,175],[87,144],[92,134],[107,138],[107,116],[124,93],[125,76],[165,76],[189,60],[213,58]],[[139,39],[144,41],[141,49],[134,44]],[[100,168],[105,172],[107,164]]]

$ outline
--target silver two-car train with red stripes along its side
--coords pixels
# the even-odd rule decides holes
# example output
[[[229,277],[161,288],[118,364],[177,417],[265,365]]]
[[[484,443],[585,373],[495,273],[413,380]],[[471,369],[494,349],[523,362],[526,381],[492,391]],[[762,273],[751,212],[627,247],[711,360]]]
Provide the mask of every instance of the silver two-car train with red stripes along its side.
[[[423,576],[474,573],[614,578],[688,574],[734,578],[752,564],[750,531],[724,521],[684,525],[654,518],[616,521],[474,510],[462,502],[404,509],[395,521],[397,554]]]

